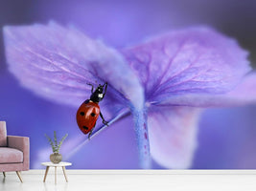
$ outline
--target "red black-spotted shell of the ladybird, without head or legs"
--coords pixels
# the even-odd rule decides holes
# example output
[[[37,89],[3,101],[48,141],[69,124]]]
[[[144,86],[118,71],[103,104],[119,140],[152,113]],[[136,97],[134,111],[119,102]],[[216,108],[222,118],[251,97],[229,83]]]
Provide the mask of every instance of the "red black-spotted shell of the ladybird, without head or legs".
[[[77,123],[83,134],[88,134],[100,115],[100,106],[95,102],[84,101],[77,112]]]

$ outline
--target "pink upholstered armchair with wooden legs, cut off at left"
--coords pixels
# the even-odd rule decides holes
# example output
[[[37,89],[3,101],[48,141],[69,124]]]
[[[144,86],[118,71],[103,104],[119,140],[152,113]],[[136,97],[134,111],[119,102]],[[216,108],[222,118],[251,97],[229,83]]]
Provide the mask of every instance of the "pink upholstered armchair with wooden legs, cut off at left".
[[[0,172],[16,171],[21,182],[20,171],[30,168],[30,139],[7,136],[6,122],[0,121]]]

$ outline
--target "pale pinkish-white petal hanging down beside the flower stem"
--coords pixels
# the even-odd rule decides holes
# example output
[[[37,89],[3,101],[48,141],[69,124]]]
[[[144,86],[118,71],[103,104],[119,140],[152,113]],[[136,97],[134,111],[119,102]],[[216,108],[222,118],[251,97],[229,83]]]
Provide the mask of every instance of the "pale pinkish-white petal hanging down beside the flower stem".
[[[189,168],[197,148],[199,109],[151,107],[148,118],[152,159],[167,168]]]

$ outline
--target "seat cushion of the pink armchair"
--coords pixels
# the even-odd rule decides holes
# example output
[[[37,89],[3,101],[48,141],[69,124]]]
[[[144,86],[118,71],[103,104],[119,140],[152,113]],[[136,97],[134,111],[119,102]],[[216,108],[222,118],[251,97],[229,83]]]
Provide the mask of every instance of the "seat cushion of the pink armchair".
[[[23,162],[23,153],[10,147],[0,147],[0,163]]]

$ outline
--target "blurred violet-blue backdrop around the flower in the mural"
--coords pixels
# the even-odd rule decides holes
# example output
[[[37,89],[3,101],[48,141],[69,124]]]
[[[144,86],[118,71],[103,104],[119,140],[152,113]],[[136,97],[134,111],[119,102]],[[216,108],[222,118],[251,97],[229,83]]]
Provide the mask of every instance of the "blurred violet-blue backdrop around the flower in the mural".
[[[75,25],[114,48],[138,43],[151,35],[195,25],[208,25],[236,38],[256,63],[256,2],[225,1],[1,1],[0,2],[0,120],[9,135],[31,138],[31,168],[41,168],[39,151],[49,149],[44,134],[69,134],[76,139],[77,108],[62,106],[20,87],[8,72],[2,27],[55,20]],[[198,131],[195,169],[256,168],[256,106],[208,109]],[[126,122],[126,121],[120,121]],[[119,122],[119,123],[120,123]],[[112,125],[83,146],[71,159],[72,168],[139,168],[132,127]],[[48,152],[48,150],[47,150]],[[51,153],[47,153],[50,155]],[[61,149],[60,149],[61,152]],[[63,156],[66,154],[64,151]],[[162,168],[153,163],[153,168]]]

